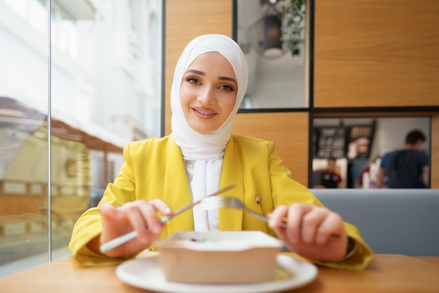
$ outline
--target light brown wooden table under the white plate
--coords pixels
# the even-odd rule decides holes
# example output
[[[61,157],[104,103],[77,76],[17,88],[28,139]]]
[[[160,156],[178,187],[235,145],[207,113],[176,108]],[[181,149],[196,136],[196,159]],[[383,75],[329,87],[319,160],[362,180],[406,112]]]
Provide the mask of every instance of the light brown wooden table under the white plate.
[[[115,268],[85,268],[69,257],[1,278],[0,292],[148,292],[119,280],[114,273]],[[438,278],[439,256],[377,254],[365,271],[339,271],[319,267],[316,280],[290,292],[439,292]]]

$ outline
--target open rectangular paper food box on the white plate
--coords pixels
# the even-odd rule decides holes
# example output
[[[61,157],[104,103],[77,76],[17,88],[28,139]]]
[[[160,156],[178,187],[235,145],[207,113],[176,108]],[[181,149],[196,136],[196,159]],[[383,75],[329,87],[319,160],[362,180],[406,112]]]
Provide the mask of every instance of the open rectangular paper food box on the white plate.
[[[179,232],[160,245],[168,282],[271,282],[282,242],[259,231]]]

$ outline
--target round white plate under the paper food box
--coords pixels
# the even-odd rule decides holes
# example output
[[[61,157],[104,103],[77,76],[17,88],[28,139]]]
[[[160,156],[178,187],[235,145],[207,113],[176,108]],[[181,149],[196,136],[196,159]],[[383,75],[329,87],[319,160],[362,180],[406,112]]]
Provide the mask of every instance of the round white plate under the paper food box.
[[[279,254],[278,266],[290,273],[290,278],[273,282],[233,285],[197,285],[168,282],[161,270],[158,256],[133,259],[121,263],[116,268],[116,275],[123,282],[156,292],[167,293],[264,293],[278,292],[302,287],[317,276],[317,268],[312,263],[299,261],[290,256]],[[243,272],[245,273],[245,272]]]

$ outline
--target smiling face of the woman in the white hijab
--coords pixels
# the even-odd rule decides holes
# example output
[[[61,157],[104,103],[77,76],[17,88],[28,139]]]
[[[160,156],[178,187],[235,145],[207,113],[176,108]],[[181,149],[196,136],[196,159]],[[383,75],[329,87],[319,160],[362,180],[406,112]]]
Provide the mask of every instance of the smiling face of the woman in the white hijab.
[[[215,131],[229,117],[238,83],[229,61],[217,52],[203,53],[189,65],[180,85],[180,103],[189,126]]]

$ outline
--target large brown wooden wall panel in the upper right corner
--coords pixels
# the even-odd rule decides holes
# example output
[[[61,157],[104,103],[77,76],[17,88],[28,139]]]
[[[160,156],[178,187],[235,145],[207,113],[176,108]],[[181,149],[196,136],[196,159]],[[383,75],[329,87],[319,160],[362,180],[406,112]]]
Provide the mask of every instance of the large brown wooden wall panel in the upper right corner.
[[[315,1],[314,106],[439,105],[439,1]]]

